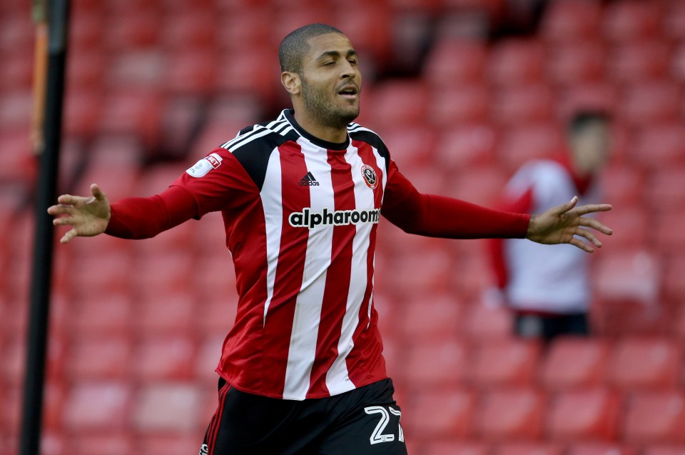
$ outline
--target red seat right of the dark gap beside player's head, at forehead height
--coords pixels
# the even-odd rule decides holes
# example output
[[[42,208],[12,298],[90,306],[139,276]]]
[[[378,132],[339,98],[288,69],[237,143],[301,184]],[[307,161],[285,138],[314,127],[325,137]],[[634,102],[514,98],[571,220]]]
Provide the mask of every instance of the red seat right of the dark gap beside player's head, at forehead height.
[[[442,92],[456,86],[482,84],[487,47],[475,40],[443,39],[432,46],[423,66],[423,79]]]

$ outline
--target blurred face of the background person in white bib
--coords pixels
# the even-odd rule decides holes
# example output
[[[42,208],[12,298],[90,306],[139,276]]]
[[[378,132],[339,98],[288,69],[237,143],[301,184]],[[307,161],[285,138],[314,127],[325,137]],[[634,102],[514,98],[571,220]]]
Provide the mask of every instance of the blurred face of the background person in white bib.
[[[576,166],[588,174],[599,171],[609,160],[611,129],[605,121],[594,121],[572,136]]]

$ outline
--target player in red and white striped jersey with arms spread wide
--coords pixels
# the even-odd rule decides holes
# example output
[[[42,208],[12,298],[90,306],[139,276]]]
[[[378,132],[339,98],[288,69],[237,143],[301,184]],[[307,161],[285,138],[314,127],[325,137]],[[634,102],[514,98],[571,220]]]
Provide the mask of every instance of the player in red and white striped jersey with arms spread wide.
[[[49,214],[72,226],[67,243],[143,239],[222,212],[239,300],[201,454],[406,454],[372,297],[380,214],[411,234],[592,251],[601,242],[585,228],[611,230],[584,215],[611,206],[572,199],[531,216],[420,194],[380,137],[352,123],[362,76],[347,36],[310,24],[279,57],[293,109],[243,129],[156,196],[110,204],[93,184]]]

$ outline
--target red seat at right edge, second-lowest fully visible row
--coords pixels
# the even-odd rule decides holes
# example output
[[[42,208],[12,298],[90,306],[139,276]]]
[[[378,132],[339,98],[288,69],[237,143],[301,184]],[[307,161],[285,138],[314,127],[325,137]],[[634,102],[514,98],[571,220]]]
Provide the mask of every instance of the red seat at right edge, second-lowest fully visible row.
[[[609,381],[621,389],[669,389],[678,384],[683,350],[666,338],[626,338],[609,362]]]

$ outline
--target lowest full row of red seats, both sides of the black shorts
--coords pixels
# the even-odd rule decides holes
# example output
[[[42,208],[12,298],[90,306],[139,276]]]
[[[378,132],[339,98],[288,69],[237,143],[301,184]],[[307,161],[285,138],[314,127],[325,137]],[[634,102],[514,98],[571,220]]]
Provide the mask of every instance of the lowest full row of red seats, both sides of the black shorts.
[[[405,388],[398,399],[410,448],[469,440],[558,446],[685,444],[681,391],[619,394],[611,389],[576,389],[547,395],[530,388],[484,392]],[[16,401],[9,397],[9,406],[1,411],[11,426],[15,423],[7,414],[16,411]],[[131,387],[122,381],[82,381],[70,388],[48,387],[45,427],[64,439],[113,433],[186,434],[199,440],[215,406],[215,393],[193,382]]]

